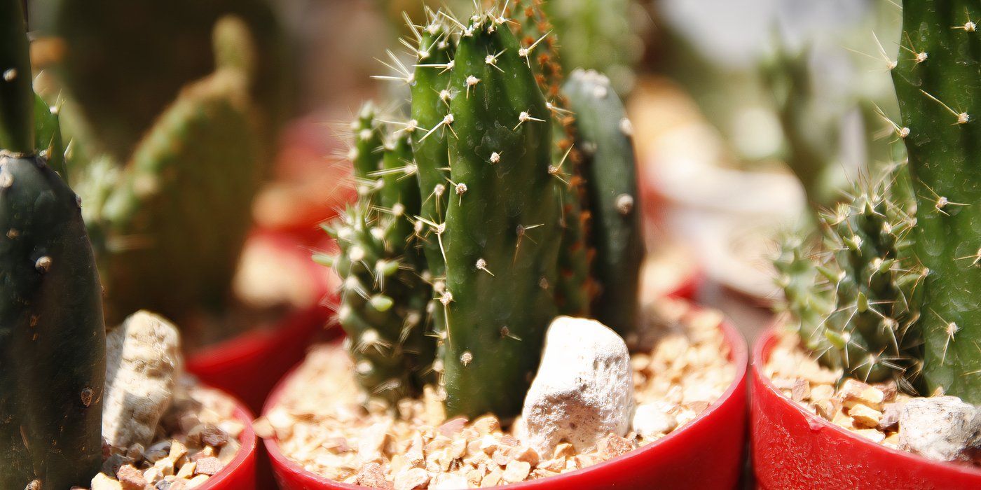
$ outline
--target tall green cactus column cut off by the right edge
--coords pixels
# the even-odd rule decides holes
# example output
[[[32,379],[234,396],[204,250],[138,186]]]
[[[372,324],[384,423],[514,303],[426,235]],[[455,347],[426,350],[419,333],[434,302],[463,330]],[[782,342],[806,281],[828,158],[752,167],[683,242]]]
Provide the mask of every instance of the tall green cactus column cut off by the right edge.
[[[981,6],[967,0],[903,4],[893,81],[916,198],[913,252],[929,270],[917,323],[923,377],[931,393],[940,388],[979,404],[981,55],[974,22]]]

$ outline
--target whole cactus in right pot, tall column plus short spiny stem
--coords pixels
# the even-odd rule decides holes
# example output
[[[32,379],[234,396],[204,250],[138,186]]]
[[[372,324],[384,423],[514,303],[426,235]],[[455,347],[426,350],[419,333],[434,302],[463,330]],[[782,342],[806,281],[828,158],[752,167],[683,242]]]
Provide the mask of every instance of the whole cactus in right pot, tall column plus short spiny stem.
[[[823,275],[827,287],[785,277],[785,290],[823,362],[870,379],[892,373],[908,391],[977,404],[981,173],[971,142],[981,98],[971,19],[981,10],[966,1],[907,1],[903,18],[893,69],[903,120],[893,126],[908,164],[830,215],[833,255],[810,271],[794,268]],[[800,308],[820,303],[808,296],[830,306],[814,317]]]

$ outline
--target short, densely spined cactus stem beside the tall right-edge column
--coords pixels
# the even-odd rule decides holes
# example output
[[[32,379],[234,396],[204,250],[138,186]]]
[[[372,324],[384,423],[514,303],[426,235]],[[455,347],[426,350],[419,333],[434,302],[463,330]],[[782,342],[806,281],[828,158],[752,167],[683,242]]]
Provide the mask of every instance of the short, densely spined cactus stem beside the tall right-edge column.
[[[901,185],[894,177],[859,186],[852,203],[822,216],[827,252],[792,242],[777,269],[800,337],[822,363],[865,381],[892,377],[913,390],[920,339],[911,325],[922,276],[907,269],[913,221],[908,203],[892,200],[890,189]]]

